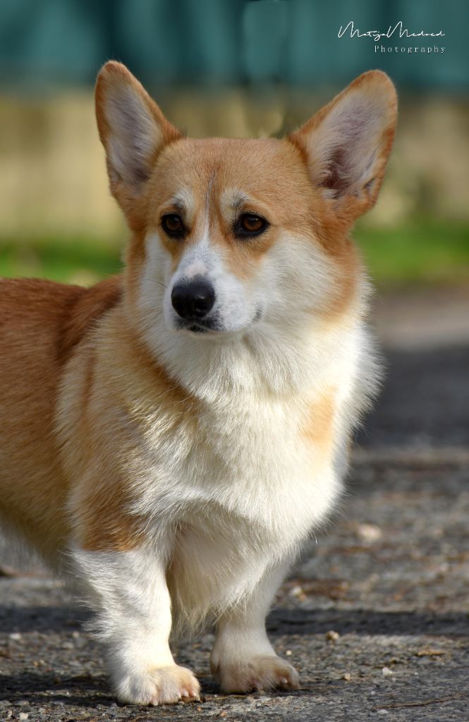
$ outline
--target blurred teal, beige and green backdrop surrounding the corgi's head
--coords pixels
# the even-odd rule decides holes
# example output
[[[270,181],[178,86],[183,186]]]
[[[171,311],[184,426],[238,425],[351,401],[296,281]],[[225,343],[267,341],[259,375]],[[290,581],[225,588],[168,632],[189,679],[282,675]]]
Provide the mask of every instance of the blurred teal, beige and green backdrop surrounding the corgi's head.
[[[435,35],[350,37],[399,21]],[[283,134],[387,71],[395,150],[356,237],[379,283],[468,282],[468,48],[465,0],[2,0],[0,274],[87,283],[119,267],[92,99],[115,58],[195,136]]]

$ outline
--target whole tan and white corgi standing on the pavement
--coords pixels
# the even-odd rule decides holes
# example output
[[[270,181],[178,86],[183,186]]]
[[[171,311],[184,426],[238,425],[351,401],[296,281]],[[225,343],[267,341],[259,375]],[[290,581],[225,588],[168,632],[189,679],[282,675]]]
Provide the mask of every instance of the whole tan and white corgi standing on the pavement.
[[[298,686],[265,617],[377,386],[349,233],[396,113],[369,71],[283,139],[189,139],[108,62],[125,270],[0,281],[1,518],[78,584],[123,703],[198,699],[169,640],[203,624],[226,692]]]

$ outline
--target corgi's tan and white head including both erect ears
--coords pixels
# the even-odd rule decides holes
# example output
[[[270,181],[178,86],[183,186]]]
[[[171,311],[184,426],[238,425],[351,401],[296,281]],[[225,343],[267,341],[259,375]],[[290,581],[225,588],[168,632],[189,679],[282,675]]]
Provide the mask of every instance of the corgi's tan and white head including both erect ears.
[[[348,230],[377,199],[395,129],[384,73],[361,75],[281,140],[186,139],[115,62],[100,71],[96,107],[133,231],[129,295],[147,326],[236,337],[352,303]]]

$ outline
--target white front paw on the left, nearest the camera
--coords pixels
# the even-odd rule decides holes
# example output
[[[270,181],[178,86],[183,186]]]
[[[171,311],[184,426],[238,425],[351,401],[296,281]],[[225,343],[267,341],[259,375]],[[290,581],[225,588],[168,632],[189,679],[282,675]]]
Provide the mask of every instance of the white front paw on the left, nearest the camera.
[[[199,692],[200,685],[192,671],[174,664],[121,680],[117,697],[121,702],[136,705],[169,705],[179,700],[199,700]]]

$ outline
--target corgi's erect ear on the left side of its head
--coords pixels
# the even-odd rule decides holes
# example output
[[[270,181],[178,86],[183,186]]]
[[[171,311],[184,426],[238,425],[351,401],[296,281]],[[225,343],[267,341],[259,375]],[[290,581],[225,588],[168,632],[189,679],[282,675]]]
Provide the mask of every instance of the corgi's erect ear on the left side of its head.
[[[158,153],[182,134],[121,63],[110,61],[101,68],[95,100],[111,193],[132,226],[132,211]]]

